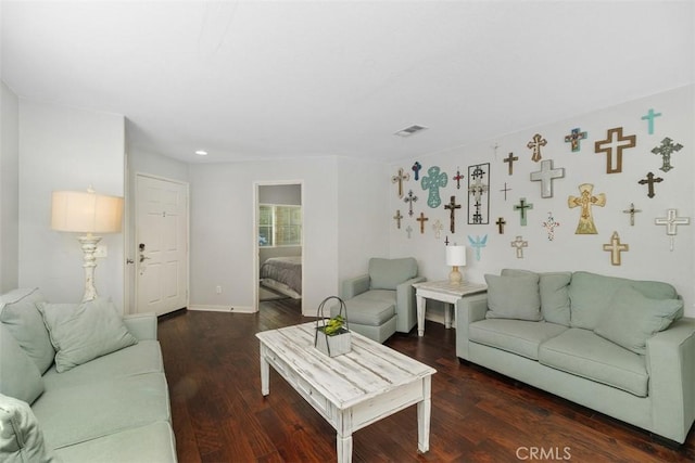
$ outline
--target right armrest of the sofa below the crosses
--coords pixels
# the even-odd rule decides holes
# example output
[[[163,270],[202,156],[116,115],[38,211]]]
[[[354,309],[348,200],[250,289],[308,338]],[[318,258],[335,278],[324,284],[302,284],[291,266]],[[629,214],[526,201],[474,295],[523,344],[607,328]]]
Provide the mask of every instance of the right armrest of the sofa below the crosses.
[[[695,421],[695,319],[647,339],[646,360],[654,432],[683,443]]]

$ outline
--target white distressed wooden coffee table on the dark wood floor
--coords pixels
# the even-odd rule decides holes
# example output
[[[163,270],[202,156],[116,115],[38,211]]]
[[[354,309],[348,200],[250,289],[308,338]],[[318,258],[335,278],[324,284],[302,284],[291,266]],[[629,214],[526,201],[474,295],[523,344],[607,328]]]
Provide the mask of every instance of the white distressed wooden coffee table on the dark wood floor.
[[[315,323],[264,331],[261,391],[273,368],[338,432],[338,462],[352,461],[352,433],[417,403],[417,448],[430,447],[431,376],[437,370],[352,332],[352,350],[330,358],[314,348]]]

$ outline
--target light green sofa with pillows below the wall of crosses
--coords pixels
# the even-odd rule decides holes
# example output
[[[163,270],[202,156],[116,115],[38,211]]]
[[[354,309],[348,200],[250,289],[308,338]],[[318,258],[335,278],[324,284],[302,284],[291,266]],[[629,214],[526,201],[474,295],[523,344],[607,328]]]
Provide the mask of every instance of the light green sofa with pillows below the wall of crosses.
[[[660,282],[503,270],[456,306],[456,355],[683,443],[695,319]],[[535,300],[534,300],[535,295]]]

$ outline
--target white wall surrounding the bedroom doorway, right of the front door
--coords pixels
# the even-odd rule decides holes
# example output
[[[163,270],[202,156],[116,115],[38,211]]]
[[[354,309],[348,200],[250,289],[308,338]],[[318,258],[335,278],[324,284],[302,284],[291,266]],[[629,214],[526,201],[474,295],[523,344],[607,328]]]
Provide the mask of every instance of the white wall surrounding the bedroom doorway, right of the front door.
[[[191,307],[254,307],[254,183],[288,180],[304,185],[304,312],[337,294],[334,158],[203,164],[190,168]]]

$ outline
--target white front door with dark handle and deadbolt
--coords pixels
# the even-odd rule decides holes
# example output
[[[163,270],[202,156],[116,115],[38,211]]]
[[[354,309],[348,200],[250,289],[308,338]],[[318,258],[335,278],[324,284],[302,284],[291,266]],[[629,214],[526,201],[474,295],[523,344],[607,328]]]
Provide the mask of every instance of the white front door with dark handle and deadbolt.
[[[188,184],[136,176],[136,312],[188,306]]]

